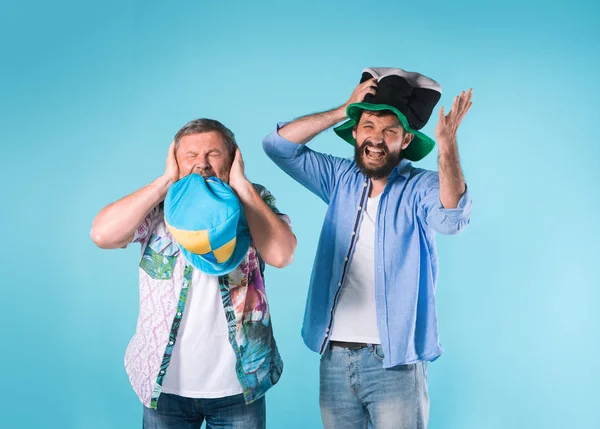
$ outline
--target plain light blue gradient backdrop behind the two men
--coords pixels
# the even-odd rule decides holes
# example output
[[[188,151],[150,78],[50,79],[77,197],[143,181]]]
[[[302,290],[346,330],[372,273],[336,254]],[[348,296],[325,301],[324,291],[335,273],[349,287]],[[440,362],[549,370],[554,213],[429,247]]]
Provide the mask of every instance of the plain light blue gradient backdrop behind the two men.
[[[141,426],[123,368],[138,249],[101,251],[89,229],[162,173],[185,122],[212,117],[299,237],[267,274],[285,360],[268,426],[321,427],[300,326],[325,205],[261,138],[395,66],[440,81],[447,108],[473,87],[459,145],[474,211],[438,240],[430,428],[600,427],[598,3],[83,3],[0,6],[0,426]],[[351,155],[331,131],[312,146]]]

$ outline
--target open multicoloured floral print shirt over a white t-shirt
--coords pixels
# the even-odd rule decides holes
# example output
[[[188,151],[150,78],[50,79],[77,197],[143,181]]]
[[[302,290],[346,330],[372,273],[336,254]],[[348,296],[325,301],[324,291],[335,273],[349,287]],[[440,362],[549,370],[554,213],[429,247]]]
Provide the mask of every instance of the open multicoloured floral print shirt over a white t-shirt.
[[[277,210],[271,193],[261,185],[254,187],[263,201],[291,225],[289,217]],[[146,216],[133,242],[141,243],[140,309],[136,332],[125,354],[125,369],[140,401],[156,408],[194,268],[167,230],[162,204]],[[251,242],[237,269],[219,277],[229,342],[236,356],[235,369],[248,404],[274,386],[283,370],[273,338],[264,269],[265,264]]]

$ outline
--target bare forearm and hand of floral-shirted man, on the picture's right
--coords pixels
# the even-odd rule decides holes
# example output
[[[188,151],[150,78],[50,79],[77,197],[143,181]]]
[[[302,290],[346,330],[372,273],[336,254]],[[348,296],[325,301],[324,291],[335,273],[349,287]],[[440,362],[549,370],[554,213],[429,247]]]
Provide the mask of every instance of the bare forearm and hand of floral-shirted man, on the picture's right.
[[[230,185],[244,206],[250,235],[265,263],[277,268],[290,264],[296,250],[296,236],[246,179],[239,149],[231,166]]]

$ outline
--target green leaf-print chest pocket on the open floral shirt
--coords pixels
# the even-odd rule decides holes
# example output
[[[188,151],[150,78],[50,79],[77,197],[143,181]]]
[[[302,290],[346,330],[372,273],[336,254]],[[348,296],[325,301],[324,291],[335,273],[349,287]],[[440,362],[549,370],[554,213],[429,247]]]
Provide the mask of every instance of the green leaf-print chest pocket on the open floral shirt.
[[[169,280],[173,278],[178,254],[179,248],[175,242],[153,234],[144,249],[140,268],[154,280]]]

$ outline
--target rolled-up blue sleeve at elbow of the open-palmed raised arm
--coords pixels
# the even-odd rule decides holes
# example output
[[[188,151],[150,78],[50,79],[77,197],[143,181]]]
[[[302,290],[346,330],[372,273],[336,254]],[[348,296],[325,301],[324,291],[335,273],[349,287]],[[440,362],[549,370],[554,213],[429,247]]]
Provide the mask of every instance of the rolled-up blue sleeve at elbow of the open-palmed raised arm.
[[[469,225],[472,202],[468,187],[465,187],[456,208],[452,209],[442,205],[438,173],[431,173],[422,180],[421,188],[419,217],[427,227],[440,234],[454,235]]]

